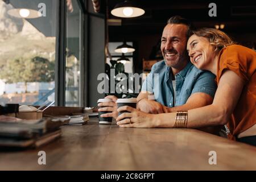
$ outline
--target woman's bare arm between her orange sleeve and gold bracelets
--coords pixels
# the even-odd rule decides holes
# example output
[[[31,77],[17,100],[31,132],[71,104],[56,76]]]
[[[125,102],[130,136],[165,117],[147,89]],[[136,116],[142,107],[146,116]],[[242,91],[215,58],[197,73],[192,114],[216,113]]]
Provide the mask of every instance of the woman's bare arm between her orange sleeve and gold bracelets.
[[[230,70],[220,78],[213,104],[188,111],[188,127],[224,125],[240,99],[244,82]]]

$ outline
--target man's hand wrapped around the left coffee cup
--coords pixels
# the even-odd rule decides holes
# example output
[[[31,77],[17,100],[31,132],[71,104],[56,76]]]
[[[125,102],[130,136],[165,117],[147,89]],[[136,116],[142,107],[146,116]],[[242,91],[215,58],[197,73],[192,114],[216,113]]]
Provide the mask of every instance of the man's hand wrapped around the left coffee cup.
[[[113,118],[117,118],[118,117],[118,111],[117,111],[117,97],[115,96],[106,96],[105,98],[109,98],[112,101],[111,102],[100,102],[98,104],[99,108],[98,111],[109,111],[110,113],[106,113],[106,114],[101,114],[102,118],[106,118],[106,117],[113,117]]]

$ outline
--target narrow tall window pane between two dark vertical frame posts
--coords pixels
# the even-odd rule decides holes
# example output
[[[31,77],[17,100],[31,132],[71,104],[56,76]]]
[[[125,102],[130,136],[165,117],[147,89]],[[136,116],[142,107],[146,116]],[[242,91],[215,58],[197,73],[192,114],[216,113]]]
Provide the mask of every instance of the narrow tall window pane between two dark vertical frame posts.
[[[68,3],[69,1],[69,3]],[[65,77],[65,105],[79,106],[81,71],[81,10],[77,1],[67,1],[67,56]]]

